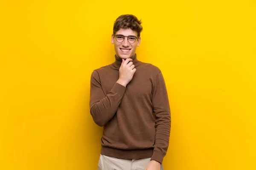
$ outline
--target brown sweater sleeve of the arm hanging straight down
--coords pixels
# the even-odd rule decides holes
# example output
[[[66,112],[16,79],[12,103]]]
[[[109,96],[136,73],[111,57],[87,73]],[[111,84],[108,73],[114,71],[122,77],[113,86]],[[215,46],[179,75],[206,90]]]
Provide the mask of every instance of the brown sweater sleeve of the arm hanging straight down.
[[[161,72],[157,74],[153,84],[152,104],[155,113],[156,135],[151,160],[162,163],[169,145],[171,113],[166,85]]]

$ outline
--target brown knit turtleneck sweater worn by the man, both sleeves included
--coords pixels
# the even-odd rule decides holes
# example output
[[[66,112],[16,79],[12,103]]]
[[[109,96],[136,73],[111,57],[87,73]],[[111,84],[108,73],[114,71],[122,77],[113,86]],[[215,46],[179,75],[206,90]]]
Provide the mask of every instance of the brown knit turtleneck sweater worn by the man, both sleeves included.
[[[136,68],[126,88],[116,81],[122,59],[91,75],[90,113],[104,126],[101,154],[120,159],[162,163],[169,145],[171,115],[166,85],[159,68],[131,57]]]

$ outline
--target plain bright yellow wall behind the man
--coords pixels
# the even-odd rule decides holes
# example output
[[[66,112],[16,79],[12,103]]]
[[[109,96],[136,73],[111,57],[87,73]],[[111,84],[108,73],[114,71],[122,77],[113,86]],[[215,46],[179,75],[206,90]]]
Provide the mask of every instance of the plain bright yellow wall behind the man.
[[[0,0],[0,169],[96,170],[90,74],[114,61],[121,14],[166,80],[165,170],[255,170],[255,0]]]

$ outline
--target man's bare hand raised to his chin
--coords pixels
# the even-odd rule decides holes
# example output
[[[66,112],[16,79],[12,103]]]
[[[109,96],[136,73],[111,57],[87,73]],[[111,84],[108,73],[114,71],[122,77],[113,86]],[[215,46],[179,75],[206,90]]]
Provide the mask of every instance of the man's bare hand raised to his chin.
[[[119,79],[117,80],[120,85],[125,87],[128,85],[136,71],[134,67],[135,65],[133,65],[132,59],[122,59],[122,64],[119,68]]]

